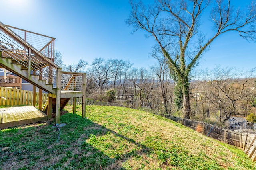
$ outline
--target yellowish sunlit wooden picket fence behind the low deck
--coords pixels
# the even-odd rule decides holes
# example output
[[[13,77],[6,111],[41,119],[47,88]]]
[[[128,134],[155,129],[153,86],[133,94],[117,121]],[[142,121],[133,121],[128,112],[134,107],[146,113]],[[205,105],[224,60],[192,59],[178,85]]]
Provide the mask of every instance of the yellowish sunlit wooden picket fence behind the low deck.
[[[0,96],[6,98],[0,98],[0,106],[16,106],[16,105],[32,105],[33,104],[33,92],[28,90],[14,89],[0,87]],[[36,104],[39,101],[39,94],[36,92]],[[47,93],[42,94],[42,102],[44,103],[48,98]]]

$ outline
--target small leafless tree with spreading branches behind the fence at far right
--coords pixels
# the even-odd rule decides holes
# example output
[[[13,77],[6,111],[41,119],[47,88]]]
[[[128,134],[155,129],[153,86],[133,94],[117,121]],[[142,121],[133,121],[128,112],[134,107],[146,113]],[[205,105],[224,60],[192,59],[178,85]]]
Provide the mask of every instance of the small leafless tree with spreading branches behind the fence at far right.
[[[206,97],[214,104],[220,114],[220,121],[226,121],[237,109],[237,102],[242,98],[244,90],[250,85],[255,70],[244,72],[235,68],[220,68],[217,66],[209,72],[206,70],[204,75],[212,90],[208,90]],[[207,93],[207,92],[206,92]],[[211,94],[209,94],[211,93]],[[210,99],[209,96],[215,97]]]

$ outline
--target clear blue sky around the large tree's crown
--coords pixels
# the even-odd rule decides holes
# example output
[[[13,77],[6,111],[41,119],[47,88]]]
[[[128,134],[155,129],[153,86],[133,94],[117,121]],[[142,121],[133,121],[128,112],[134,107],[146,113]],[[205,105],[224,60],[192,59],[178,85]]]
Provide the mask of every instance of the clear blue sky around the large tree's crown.
[[[155,44],[144,31],[131,34],[125,21],[129,0],[0,0],[0,21],[21,29],[55,37],[55,48],[65,64],[80,59],[92,63],[96,57],[130,60],[134,67],[148,68]],[[246,6],[249,0],[233,0]],[[241,4],[243,3],[243,4]],[[207,26],[206,26],[207,27]],[[223,67],[249,69],[256,66],[256,43],[228,33],[214,41],[200,60],[199,69]]]

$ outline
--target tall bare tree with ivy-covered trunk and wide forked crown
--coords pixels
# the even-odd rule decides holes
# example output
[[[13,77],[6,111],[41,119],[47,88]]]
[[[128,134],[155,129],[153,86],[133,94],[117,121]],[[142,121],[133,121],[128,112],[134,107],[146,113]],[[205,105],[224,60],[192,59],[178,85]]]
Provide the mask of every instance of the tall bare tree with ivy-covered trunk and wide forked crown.
[[[255,41],[256,4],[248,9],[234,10],[230,0],[157,0],[145,6],[141,1],[130,2],[132,10],[126,20],[134,27],[154,37],[177,81],[182,86],[183,114],[190,117],[189,76],[216,37],[233,31],[243,38]],[[214,34],[209,39],[200,31],[204,11],[210,11]],[[212,35],[212,33],[211,33]]]

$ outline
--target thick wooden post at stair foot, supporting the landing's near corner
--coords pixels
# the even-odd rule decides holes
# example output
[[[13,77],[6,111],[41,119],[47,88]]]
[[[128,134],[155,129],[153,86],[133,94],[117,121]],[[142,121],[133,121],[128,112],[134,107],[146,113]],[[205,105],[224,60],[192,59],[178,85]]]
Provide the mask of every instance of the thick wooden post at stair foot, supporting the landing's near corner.
[[[61,68],[57,69],[56,79],[56,125],[60,124]]]

